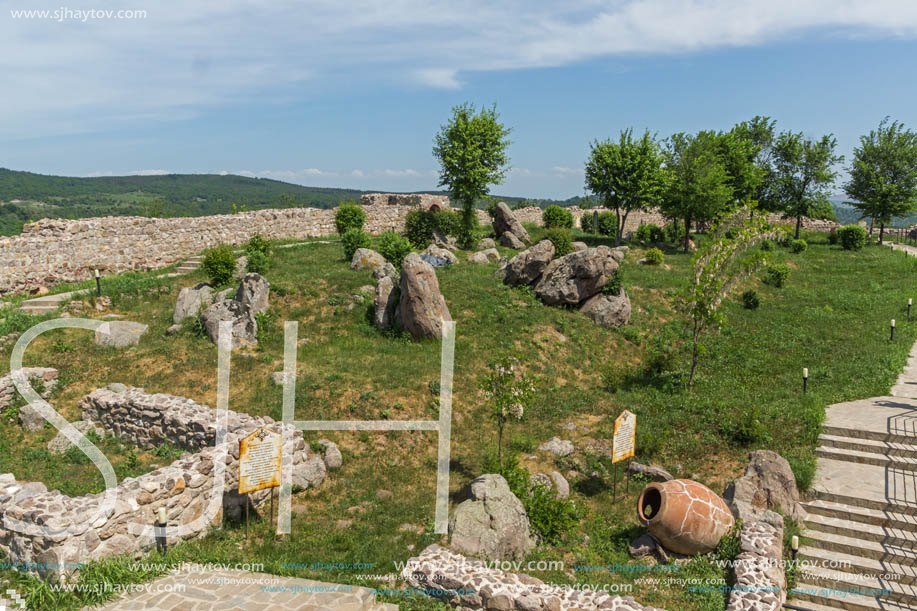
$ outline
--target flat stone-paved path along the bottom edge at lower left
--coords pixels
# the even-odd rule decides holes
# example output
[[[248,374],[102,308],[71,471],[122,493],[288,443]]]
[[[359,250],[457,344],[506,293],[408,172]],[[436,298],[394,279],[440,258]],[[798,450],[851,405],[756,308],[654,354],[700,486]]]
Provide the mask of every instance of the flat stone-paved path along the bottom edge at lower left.
[[[397,611],[370,588],[244,571],[177,572],[122,595],[96,611]],[[91,609],[87,607],[84,611]]]

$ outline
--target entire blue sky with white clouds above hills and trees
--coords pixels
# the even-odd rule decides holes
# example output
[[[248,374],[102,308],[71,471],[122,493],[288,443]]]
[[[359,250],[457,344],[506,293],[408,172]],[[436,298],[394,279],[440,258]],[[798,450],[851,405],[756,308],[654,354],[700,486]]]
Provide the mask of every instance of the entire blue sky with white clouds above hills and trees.
[[[471,101],[513,129],[494,192],[565,198],[590,141],[626,127],[764,114],[848,159],[885,115],[917,127],[913,2],[147,4],[60,20],[0,0],[0,166],[432,189],[433,136]]]

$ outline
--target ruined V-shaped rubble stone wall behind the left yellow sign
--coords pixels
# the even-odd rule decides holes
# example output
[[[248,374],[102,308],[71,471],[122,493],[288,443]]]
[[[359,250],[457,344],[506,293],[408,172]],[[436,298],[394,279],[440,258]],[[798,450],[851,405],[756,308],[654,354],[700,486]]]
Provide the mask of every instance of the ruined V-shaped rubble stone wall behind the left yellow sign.
[[[238,515],[245,499],[236,494],[239,474],[239,440],[260,426],[282,432],[282,423],[270,418],[228,412],[229,432],[220,446],[204,447],[213,439],[216,412],[190,399],[149,395],[143,389],[112,385],[96,390],[81,401],[84,416],[95,419],[128,442],[145,447],[169,439],[188,450],[172,464],[117,486],[113,510],[95,521],[102,494],[69,497],[48,491],[40,482],[17,483],[11,474],[0,475],[0,552],[29,573],[51,580],[72,577],[74,565],[122,554],[138,555],[155,546],[152,537],[131,532],[129,522],[153,524],[159,508],[166,509],[171,526],[189,524],[204,514],[214,486],[215,461],[226,465],[220,511],[211,521],[219,525],[224,513]],[[148,432],[142,433],[141,429]],[[284,448],[292,456],[294,483],[319,485],[325,476],[322,459],[310,455],[302,432]],[[224,454],[225,453],[225,454]],[[255,506],[268,498],[264,490],[249,498]],[[11,528],[9,519],[25,524],[26,532]],[[47,530],[53,530],[53,534]],[[205,535],[201,529],[185,539]],[[169,544],[179,538],[170,538]]]

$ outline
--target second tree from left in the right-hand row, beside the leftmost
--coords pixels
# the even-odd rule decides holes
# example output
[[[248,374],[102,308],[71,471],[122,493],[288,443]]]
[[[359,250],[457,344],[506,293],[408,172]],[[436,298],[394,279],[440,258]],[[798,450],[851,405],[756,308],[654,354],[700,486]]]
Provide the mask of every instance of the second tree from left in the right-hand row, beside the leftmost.
[[[719,134],[674,134],[669,138],[668,154],[671,179],[661,209],[667,217],[684,221],[688,252],[691,223],[710,222],[726,212],[733,201],[733,190],[720,155]]]

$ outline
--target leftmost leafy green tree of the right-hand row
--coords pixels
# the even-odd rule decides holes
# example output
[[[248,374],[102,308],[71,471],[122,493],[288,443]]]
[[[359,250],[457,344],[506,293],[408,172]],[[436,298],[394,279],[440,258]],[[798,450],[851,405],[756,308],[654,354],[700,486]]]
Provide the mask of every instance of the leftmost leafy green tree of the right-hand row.
[[[592,191],[618,219],[615,246],[621,243],[627,215],[662,203],[666,187],[665,157],[649,131],[637,140],[621,132],[617,142],[593,142],[586,161],[586,189]]]

